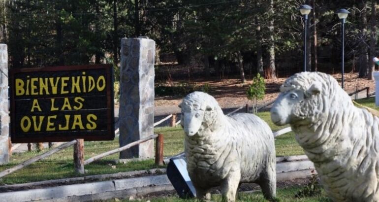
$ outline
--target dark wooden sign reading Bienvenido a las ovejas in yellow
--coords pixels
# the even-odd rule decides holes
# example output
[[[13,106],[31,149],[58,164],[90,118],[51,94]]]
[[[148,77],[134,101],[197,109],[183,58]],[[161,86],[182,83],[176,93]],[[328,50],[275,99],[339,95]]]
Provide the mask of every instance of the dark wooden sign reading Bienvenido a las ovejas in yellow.
[[[114,139],[112,65],[9,70],[13,143]]]

